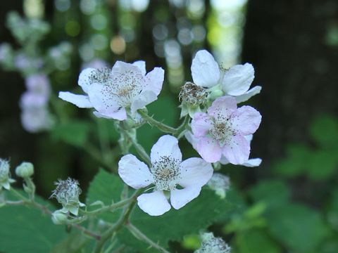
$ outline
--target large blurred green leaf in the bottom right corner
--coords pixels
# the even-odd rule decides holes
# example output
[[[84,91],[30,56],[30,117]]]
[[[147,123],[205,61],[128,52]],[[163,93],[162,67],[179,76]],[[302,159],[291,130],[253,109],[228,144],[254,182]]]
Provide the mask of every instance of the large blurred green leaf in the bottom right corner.
[[[267,217],[271,235],[289,251],[313,252],[329,233],[320,214],[304,205],[284,205]]]

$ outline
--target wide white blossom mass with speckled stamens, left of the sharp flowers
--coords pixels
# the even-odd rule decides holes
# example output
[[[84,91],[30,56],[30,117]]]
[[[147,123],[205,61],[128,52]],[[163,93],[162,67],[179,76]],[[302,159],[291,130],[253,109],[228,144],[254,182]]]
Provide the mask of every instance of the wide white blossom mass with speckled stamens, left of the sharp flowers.
[[[146,74],[144,61],[133,64],[117,61],[112,70],[82,70],[78,84],[87,96],[60,92],[59,98],[79,108],[94,108],[96,117],[124,120],[127,111],[134,115],[157,99],[163,79],[161,67]]]

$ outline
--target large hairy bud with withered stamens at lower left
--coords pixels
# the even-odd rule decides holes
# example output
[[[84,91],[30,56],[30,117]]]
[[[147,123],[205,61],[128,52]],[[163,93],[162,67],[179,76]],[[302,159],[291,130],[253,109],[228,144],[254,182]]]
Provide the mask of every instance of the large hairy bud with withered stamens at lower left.
[[[84,206],[84,204],[79,201],[79,195],[81,194],[79,182],[75,179],[68,178],[66,180],[58,180],[55,185],[56,189],[53,191],[51,197],[55,197],[62,205],[63,209],[60,211],[77,215],[79,206]]]

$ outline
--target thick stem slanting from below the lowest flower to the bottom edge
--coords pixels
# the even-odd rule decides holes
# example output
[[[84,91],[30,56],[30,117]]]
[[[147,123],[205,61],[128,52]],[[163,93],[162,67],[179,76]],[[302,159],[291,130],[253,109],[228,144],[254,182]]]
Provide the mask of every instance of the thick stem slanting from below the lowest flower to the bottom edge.
[[[108,230],[106,230],[101,235],[101,240],[99,240],[97,242],[96,247],[94,249],[95,253],[101,253],[106,241],[109,238],[111,238],[113,233],[120,230],[120,228],[122,228],[123,224],[129,222],[129,216],[130,216],[132,210],[134,209],[134,205],[136,204],[136,199],[141,193],[143,193],[142,189],[136,190],[134,192],[134,194],[131,197],[133,199],[133,201],[130,202],[130,204],[127,205],[127,207],[125,207],[123,214],[120,216],[120,219],[118,219],[118,221],[113,226],[111,226],[111,228],[108,228]]]

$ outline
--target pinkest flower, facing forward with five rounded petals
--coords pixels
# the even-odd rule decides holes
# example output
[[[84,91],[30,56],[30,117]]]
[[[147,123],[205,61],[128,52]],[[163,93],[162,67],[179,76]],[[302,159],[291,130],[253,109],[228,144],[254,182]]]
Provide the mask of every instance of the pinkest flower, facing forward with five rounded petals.
[[[222,155],[232,164],[249,160],[250,143],[245,136],[261,124],[261,114],[251,108],[237,108],[231,96],[217,98],[208,113],[196,112],[192,119],[195,148],[206,162],[218,162]]]

